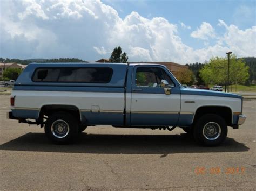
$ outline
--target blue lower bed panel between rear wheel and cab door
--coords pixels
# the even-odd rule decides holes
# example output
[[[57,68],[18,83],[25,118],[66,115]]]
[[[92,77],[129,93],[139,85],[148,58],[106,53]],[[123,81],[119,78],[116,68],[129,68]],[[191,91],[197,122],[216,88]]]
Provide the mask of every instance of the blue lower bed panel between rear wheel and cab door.
[[[87,125],[123,125],[123,113],[81,112],[82,122]]]

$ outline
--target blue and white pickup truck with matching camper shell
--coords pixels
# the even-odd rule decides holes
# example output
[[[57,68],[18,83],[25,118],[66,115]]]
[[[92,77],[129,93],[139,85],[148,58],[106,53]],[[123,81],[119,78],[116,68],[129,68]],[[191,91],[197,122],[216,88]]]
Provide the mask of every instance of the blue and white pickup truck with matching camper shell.
[[[76,140],[86,126],[177,126],[206,146],[246,119],[239,95],[184,88],[165,66],[126,63],[31,63],[14,84],[7,117],[44,126],[54,143]]]

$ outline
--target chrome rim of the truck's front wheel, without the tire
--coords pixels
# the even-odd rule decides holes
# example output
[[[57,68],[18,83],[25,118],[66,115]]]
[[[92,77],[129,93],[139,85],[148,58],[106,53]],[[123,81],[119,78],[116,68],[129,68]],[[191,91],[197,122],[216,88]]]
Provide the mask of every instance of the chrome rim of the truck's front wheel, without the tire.
[[[221,133],[220,125],[216,122],[208,122],[203,128],[203,135],[208,140],[216,140]]]

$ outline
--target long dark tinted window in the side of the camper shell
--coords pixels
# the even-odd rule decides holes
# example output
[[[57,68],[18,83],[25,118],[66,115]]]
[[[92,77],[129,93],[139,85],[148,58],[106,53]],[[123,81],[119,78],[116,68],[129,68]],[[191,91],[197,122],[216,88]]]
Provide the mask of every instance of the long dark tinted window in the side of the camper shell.
[[[37,68],[32,76],[34,82],[83,82],[109,83],[112,68]]]

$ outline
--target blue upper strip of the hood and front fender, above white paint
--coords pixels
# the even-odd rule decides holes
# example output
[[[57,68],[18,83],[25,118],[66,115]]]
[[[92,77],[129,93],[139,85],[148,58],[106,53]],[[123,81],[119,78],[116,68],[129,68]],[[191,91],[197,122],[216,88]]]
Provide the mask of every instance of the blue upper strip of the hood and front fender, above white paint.
[[[242,99],[242,96],[237,94],[224,93],[224,92],[212,91],[212,90],[180,88],[180,93],[181,95],[218,96],[218,97],[231,97],[231,98]]]

